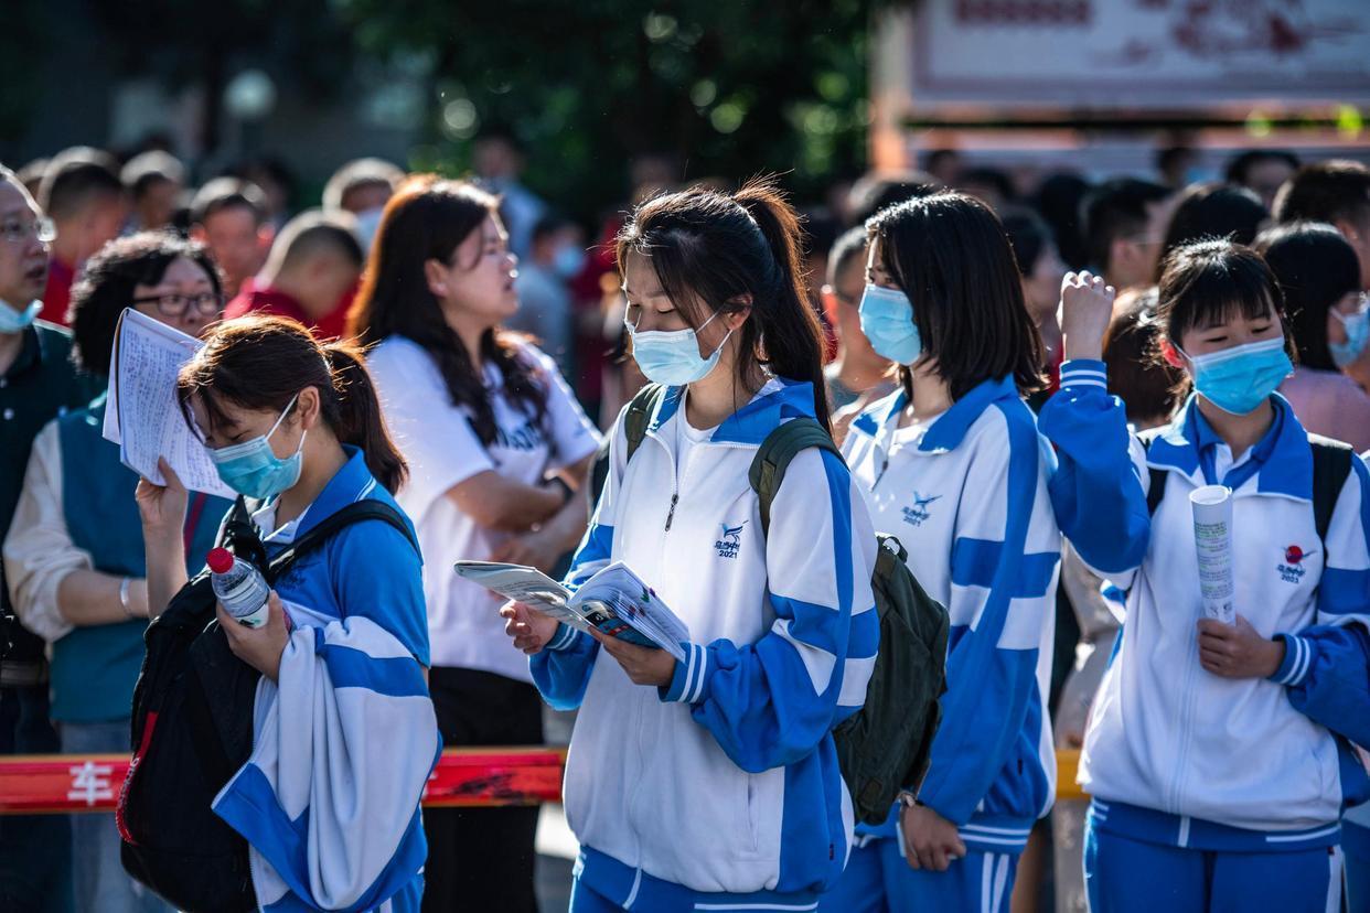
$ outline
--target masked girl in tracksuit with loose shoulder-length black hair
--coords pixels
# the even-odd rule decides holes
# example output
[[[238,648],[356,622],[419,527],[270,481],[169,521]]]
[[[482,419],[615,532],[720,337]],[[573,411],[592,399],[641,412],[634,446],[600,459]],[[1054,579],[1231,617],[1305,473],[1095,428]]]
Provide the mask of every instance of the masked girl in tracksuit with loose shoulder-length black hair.
[[[951,615],[941,728],[922,790],[858,847],[825,910],[1007,910],[1055,793],[1045,697],[1060,534],[1055,465],[1022,394],[1041,349],[1003,227],[971,197],[885,209],[862,327],[901,390],[843,448],[875,527]],[[901,838],[901,839],[900,839]]]

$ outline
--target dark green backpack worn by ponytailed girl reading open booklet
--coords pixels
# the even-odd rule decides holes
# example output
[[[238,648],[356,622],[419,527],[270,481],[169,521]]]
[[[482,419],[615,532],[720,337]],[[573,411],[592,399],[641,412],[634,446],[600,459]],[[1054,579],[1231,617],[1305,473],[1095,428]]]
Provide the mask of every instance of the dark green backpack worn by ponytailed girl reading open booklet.
[[[664,387],[649,385],[623,416],[627,459],[647,437],[647,424]],[[818,448],[837,454],[832,435],[814,419],[797,417],[766,435],[752,459],[748,480],[756,491],[762,532],[770,532],[770,508],[799,453]],[[918,791],[932,761],[947,691],[947,609],[908,569],[908,553],[892,535],[878,535],[871,590],[880,617],[880,649],[862,709],[833,730],[837,761],[852,797],[856,820],[881,824],[904,790]]]

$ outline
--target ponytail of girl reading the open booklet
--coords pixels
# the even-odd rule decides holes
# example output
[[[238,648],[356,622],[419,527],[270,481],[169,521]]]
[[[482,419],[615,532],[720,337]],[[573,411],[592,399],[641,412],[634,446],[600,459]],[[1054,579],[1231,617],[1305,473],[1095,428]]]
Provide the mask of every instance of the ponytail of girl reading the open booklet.
[[[800,266],[799,214],[785,201],[774,178],[748,181],[733,200],[756,220],[775,266],[769,282],[774,297],[769,305],[752,308],[766,364],[773,374],[814,385],[814,415],[830,430],[823,331]]]

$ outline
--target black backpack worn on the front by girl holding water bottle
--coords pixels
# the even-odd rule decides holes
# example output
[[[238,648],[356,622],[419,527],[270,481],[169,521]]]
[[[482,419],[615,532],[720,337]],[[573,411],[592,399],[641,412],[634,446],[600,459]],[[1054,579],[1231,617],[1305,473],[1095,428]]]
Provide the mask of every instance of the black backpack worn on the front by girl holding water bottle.
[[[395,508],[358,501],[267,560],[242,498],[225,519],[218,541],[256,564],[274,584],[300,556],[362,520],[389,523],[414,542]],[[210,803],[252,754],[260,673],[233,656],[215,605],[206,569],[148,626],[147,654],[133,691],[133,762],[115,812],[125,871],[190,913],[258,909],[248,843]]]

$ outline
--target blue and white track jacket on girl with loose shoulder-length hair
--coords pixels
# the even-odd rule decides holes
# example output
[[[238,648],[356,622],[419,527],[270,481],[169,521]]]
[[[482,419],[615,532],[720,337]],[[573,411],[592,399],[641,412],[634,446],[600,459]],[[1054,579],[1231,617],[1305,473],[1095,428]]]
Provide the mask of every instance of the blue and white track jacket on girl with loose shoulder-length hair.
[[[981,383],[896,443],[906,402],[899,391],[858,416],[844,450],[877,530],[904,545],[914,576],[951,615],[943,721],[918,798],[958,825],[967,849],[1018,853],[1056,782],[1045,706],[1055,460],[1012,378]],[[893,835],[895,820],[862,831]]]

